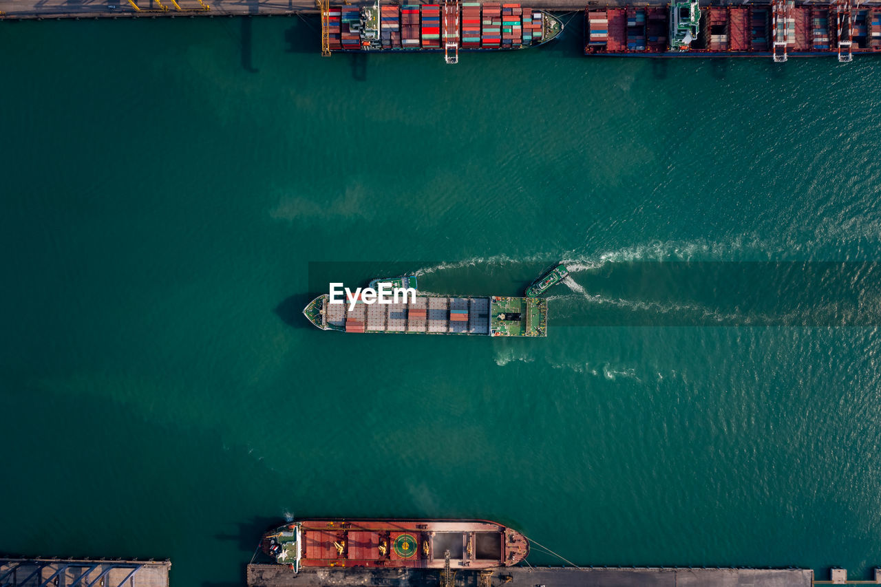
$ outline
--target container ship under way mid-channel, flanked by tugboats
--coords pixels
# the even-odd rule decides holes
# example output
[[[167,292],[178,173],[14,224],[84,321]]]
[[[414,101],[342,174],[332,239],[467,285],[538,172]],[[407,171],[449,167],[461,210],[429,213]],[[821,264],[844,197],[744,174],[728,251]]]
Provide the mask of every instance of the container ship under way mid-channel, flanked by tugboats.
[[[303,315],[322,331],[546,337],[548,307],[542,298],[418,294],[389,304],[359,299],[351,308],[348,302],[330,303],[323,294],[303,308]]]

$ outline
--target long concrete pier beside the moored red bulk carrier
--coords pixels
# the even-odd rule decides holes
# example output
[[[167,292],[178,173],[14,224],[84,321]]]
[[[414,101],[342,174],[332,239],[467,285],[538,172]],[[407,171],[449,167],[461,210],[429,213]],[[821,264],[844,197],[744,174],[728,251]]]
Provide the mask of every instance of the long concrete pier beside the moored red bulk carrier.
[[[248,565],[248,587],[438,587],[437,571],[403,568],[307,568]],[[806,568],[557,568],[456,569],[455,587],[811,587]]]

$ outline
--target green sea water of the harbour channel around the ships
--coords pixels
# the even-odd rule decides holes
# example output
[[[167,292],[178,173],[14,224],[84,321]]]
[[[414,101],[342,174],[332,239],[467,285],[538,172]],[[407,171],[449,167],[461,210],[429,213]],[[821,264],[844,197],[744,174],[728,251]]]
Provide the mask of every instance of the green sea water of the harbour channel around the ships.
[[[740,268],[881,257],[881,62],[587,59],[580,26],[448,66],[295,18],[0,23],[0,552],[238,585],[285,516],[477,516],[868,576],[881,334],[826,310],[877,274]],[[299,314],[329,267],[517,294],[560,259],[544,339]]]

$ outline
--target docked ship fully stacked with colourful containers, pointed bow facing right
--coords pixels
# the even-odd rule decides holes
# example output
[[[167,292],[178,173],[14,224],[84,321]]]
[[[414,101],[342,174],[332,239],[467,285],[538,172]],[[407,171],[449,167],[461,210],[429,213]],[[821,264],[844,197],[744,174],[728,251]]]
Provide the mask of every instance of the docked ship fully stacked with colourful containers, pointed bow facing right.
[[[443,51],[537,47],[559,36],[563,23],[521,4],[453,3],[322,6],[322,55],[333,51]]]

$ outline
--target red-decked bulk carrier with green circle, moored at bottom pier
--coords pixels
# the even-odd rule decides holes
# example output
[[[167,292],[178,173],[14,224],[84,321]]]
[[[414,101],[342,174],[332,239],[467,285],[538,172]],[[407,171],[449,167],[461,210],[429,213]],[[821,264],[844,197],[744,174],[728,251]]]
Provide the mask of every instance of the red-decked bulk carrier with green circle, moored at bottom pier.
[[[308,519],[263,535],[263,552],[304,567],[493,568],[529,554],[520,532],[485,520]]]

